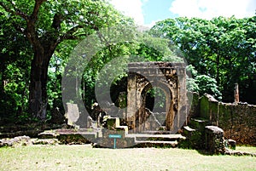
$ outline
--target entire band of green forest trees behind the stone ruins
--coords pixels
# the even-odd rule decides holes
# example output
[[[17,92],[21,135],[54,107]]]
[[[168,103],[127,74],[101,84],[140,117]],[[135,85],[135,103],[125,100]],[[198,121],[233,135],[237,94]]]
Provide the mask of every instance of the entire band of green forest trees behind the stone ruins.
[[[103,0],[0,1],[0,123],[46,121],[55,109],[64,115],[61,78],[73,48],[102,28],[137,26]],[[96,102],[96,77],[104,64],[119,56],[143,56],[148,61],[173,61],[183,56],[192,77],[188,89],[233,102],[235,83],[240,100],[256,104],[256,15],[250,18],[218,17],[167,19],[157,22],[145,42],[164,49],[160,53],[144,43],[108,43],[84,68],[82,94],[90,111]],[[125,91],[125,75],[113,83],[115,102]],[[104,85],[102,85],[104,86]]]

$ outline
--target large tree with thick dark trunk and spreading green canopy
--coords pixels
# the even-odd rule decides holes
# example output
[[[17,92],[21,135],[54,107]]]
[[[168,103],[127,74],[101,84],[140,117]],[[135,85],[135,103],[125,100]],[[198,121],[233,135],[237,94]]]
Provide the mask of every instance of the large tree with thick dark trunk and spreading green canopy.
[[[0,12],[32,46],[29,108],[40,120],[46,118],[49,61],[57,46],[121,20],[111,5],[94,0],[3,0]]]

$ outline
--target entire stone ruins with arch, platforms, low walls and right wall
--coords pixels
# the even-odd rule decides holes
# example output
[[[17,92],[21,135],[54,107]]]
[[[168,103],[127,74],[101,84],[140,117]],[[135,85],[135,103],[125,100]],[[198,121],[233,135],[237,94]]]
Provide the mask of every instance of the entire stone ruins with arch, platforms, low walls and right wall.
[[[234,104],[219,103],[210,95],[207,95],[207,99],[195,98],[193,94],[193,105],[190,110],[191,97],[188,98],[189,93],[186,90],[186,68],[183,63],[135,62],[130,63],[128,69],[126,111],[120,113],[122,110],[111,110],[113,104],[110,103],[105,107],[95,104],[94,107],[102,112],[101,115],[92,113],[92,116],[82,116],[79,105],[67,103],[67,124],[73,125],[74,129],[40,133],[38,136],[42,140],[36,140],[32,144],[93,143],[95,146],[110,148],[178,145],[183,148],[205,149],[209,154],[256,156],[246,152],[230,151],[229,149],[236,149],[236,140],[224,140],[224,135],[227,134],[225,125],[228,127],[235,125],[230,124],[230,121],[237,123],[236,113],[239,118],[241,116],[247,118],[242,119],[243,122],[244,120],[251,122],[245,124],[247,126],[245,130],[250,130],[252,133],[255,130],[253,113],[256,106],[239,103],[238,85],[234,91]],[[147,93],[152,88],[160,88],[164,92],[165,105],[161,111],[147,108]],[[122,96],[125,97],[124,94]],[[114,113],[118,113],[118,117],[117,115],[113,117]],[[86,127],[76,127],[79,123],[85,123]],[[218,125],[221,128],[218,128]],[[44,140],[49,137],[54,141]],[[27,137],[3,139],[0,140],[0,147],[13,145],[16,142],[28,144],[24,142],[30,140]]]

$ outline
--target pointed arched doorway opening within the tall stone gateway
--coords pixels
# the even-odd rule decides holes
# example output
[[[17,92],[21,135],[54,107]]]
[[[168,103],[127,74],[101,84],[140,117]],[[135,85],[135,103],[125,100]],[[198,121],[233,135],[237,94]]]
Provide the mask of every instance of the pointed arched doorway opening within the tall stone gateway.
[[[137,115],[141,121],[136,125],[139,132],[166,130],[166,124],[172,127],[168,122],[173,117],[172,92],[166,84],[156,84],[158,87],[148,84],[141,93],[143,102]]]

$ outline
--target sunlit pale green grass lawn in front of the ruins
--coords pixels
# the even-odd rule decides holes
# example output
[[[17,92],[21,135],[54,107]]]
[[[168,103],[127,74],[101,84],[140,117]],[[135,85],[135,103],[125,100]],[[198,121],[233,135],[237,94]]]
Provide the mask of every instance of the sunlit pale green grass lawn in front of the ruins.
[[[238,147],[256,152],[256,147]],[[205,156],[182,149],[95,149],[32,145],[0,149],[0,170],[256,170],[256,157]]]

